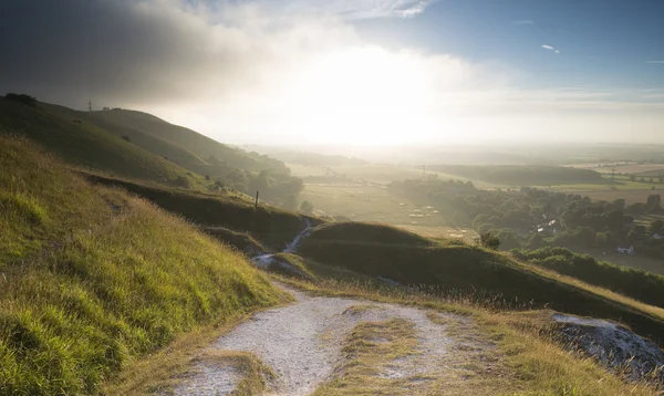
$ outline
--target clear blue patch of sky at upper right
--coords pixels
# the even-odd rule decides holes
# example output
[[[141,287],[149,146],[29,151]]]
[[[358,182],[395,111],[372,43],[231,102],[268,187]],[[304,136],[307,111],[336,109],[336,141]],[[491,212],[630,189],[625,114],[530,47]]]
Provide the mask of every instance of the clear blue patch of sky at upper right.
[[[353,23],[384,45],[521,70],[523,87],[664,87],[664,63],[647,63],[664,61],[664,1],[440,0],[416,18]]]

